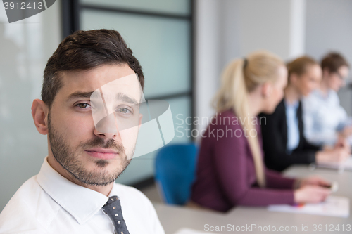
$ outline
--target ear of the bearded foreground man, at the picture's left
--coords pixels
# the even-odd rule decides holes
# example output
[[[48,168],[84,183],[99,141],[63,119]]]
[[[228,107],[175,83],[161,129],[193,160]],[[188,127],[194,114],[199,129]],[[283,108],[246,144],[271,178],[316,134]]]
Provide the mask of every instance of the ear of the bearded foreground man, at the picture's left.
[[[48,134],[48,107],[40,99],[34,99],[32,103],[32,117],[34,120],[34,125],[39,131],[39,134],[47,135]]]

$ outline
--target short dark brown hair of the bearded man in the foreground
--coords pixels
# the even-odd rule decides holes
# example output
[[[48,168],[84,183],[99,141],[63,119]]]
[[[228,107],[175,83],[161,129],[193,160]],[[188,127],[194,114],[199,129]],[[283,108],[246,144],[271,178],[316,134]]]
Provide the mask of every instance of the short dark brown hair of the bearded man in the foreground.
[[[137,73],[144,88],[144,75],[137,58],[115,30],[77,31],[63,39],[44,70],[42,100],[49,109],[63,86],[61,72],[89,70],[100,65],[127,64]]]

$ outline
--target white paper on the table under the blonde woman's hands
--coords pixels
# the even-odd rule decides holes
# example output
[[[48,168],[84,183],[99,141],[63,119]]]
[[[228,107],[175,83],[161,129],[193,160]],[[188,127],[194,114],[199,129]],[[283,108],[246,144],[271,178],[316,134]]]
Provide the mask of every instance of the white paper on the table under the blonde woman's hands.
[[[317,214],[323,216],[348,217],[350,215],[350,200],[348,197],[329,196],[319,204],[278,204],[268,206],[272,212],[289,212],[301,214]]]

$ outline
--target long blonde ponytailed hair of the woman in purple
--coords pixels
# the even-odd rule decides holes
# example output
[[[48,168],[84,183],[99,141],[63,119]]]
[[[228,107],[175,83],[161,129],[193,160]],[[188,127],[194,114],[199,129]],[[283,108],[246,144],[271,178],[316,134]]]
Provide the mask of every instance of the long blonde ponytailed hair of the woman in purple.
[[[249,92],[260,84],[274,81],[277,77],[277,68],[284,62],[267,51],[259,51],[248,56],[246,65],[244,59],[234,60],[227,65],[222,73],[221,86],[214,97],[213,106],[217,112],[232,109],[247,132],[256,130],[251,121],[244,121],[249,117]],[[247,141],[253,155],[256,168],[257,183],[265,187],[265,171],[257,136],[248,134]]]

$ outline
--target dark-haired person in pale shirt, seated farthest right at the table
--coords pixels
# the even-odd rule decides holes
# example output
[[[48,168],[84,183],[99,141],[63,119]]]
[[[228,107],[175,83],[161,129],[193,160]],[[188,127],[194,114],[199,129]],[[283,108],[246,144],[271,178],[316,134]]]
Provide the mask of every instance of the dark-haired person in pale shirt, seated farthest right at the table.
[[[307,98],[303,98],[304,134],[310,143],[334,145],[339,137],[352,134],[351,123],[340,105],[337,91],[345,84],[348,63],[339,53],[322,59],[322,81]]]

